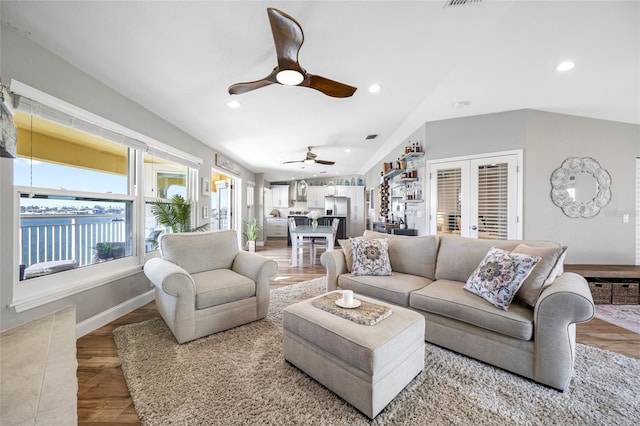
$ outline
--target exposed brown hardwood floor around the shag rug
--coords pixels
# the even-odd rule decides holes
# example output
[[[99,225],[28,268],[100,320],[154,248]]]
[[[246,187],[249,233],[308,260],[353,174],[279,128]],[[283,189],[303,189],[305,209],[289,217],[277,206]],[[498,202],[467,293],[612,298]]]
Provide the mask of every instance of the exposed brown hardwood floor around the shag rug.
[[[289,266],[291,249],[287,247],[286,239],[271,239],[257,251],[278,262],[278,272],[271,280],[272,289],[325,274],[319,262],[321,253],[316,255],[315,265],[310,264],[309,255],[305,252],[304,258],[298,259],[300,266]],[[77,340],[79,425],[140,424],[122,375],[112,332],[121,325],[158,316],[152,302]],[[580,343],[640,359],[640,334],[599,319],[578,324],[576,339]]]

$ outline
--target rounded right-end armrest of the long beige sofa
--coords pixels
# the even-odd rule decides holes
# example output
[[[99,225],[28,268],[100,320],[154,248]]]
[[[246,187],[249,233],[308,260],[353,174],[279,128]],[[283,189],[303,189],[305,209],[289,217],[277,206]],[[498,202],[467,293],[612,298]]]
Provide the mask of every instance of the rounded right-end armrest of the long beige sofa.
[[[564,390],[569,385],[575,359],[575,323],[595,315],[587,281],[565,272],[545,288],[533,315],[535,380]],[[561,360],[568,360],[562,365]]]

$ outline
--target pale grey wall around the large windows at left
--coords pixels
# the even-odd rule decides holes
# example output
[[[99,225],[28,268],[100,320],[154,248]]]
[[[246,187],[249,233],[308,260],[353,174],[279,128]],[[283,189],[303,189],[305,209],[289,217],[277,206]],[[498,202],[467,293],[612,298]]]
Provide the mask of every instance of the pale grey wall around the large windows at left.
[[[22,37],[7,25],[0,29],[2,63],[0,76],[3,84],[16,79],[79,108],[126,126],[175,148],[203,159],[201,176],[209,176],[215,161],[215,151],[154,115],[120,93],[110,89],[40,45]],[[107,64],[105,64],[107,65]],[[238,166],[243,187],[241,214],[246,215],[246,182],[255,180],[254,174]],[[96,289],[16,314],[7,305],[13,296],[13,282],[18,266],[13,264],[14,223],[18,207],[14,206],[13,164],[11,159],[0,160],[0,330],[15,327],[55,312],[65,306],[77,305],[78,322],[126,302],[147,292],[149,282],[142,272],[102,285]],[[199,181],[199,180],[198,180]],[[204,223],[200,206],[210,206],[210,198],[199,195],[198,220]],[[243,219],[246,219],[243,217]]]

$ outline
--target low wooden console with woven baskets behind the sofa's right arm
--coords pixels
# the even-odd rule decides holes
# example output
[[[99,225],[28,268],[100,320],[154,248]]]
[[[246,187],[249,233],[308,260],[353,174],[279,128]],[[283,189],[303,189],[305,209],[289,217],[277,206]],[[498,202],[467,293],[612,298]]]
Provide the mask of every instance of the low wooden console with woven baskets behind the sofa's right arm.
[[[565,272],[586,278],[596,304],[640,302],[640,265],[564,265]]]

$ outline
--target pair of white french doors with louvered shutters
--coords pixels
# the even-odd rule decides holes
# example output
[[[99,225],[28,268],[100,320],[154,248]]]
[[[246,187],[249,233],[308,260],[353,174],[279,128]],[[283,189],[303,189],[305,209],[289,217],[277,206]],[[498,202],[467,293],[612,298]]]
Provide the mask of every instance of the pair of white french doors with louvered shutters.
[[[431,234],[521,239],[521,151],[429,162]]]

